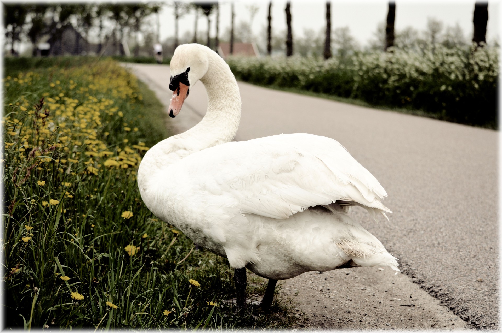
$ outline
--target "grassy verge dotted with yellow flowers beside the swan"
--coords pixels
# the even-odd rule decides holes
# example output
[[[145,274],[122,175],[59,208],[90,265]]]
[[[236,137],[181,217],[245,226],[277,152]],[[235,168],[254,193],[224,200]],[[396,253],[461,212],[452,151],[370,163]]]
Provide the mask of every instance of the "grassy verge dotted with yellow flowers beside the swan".
[[[234,314],[226,259],[143,204],[136,172],[167,137],[151,91],[111,60],[16,71],[6,60],[2,163],[7,326],[233,328],[288,325]],[[54,64],[55,63],[55,64]],[[76,65],[72,65],[75,63]],[[18,66],[18,68],[22,66]],[[159,120],[162,121],[159,121]],[[249,292],[265,280],[250,277]]]

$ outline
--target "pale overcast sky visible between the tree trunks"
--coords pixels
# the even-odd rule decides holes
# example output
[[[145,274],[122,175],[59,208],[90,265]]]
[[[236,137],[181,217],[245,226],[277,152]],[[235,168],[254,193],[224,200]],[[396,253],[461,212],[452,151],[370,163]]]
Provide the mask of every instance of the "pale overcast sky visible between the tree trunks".
[[[222,34],[230,26],[230,3],[231,1],[220,1],[220,26]],[[253,21],[253,34],[256,36],[267,26],[268,1],[234,1],[235,23],[249,21],[249,11],[247,6],[256,4],[260,9]],[[274,0],[272,2],[272,29],[280,32],[286,29],[285,0]],[[500,5],[498,2],[488,4],[488,27],[486,38],[499,37],[498,17]],[[295,35],[303,36],[304,29],[319,31],[325,29],[326,2],[320,0],[292,0],[291,16],[293,24],[293,38]],[[367,41],[373,38],[376,26],[386,20],[388,2],[373,1],[332,1],[331,2],[331,27],[349,27],[352,36],[360,45],[366,45]],[[427,18],[435,18],[444,23],[444,27],[460,25],[469,40],[472,39],[472,13],[474,11],[474,1],[396,1],[396,30],[401,30],[411,26],[419,31],[425,30]],[[193,34],[195,15],[193,12],[185,15],[179,22],[180,37],[189,31]],[[160,14],[161,40],[174,36],[174,16],[171,7],[164,7]],[[215,16],[212,18],[211,36],[215,34]],[[207,21],[201,17],[198,22],[198,30],[206,30]],[[443,30],[444,31],[444,30]]]

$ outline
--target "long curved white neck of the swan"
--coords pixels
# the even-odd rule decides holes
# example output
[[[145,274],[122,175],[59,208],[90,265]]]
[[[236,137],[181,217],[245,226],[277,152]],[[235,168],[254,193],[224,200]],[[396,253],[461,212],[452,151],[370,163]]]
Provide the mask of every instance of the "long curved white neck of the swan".
[[[207,73],[200,81],[207,92],[205,117],[188,131],[152,147],[140,164],[139,182],[140,178],[147,178],[190,154],[233,140],[239,126],[241,102],[230,68],[219,56],[211,54]],[[179,117],[183,117],[183,110]]]

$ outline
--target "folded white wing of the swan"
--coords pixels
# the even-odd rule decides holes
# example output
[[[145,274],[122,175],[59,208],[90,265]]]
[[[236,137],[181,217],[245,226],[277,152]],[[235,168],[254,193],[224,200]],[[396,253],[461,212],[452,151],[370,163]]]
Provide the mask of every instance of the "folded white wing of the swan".
[[[335,140],[286,134],[229,142],[179,162],[193,184],[230,194],[243,213],[287,218],[336,200],[388,211],[380,183]]]

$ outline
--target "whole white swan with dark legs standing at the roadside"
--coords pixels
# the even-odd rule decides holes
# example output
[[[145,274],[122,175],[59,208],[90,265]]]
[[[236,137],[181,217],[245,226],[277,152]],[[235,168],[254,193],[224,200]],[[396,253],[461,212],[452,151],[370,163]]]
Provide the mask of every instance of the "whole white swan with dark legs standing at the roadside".
[[[348,215],[354,205],[373,218],[391,210],[382,203],[384,188],[341,144],[312,134],[232,142],[241,101],[228,65],[205,46],[185,44],[170,66],[169,115],[179,114],[197,81],[206,88],[207,112],[147,151],[139,190],[157,217],[228,259],[238,308],[246,306],[246,268],[269,279],[264,308],[277,280],[307,271],[400,271],[397,258]]]

